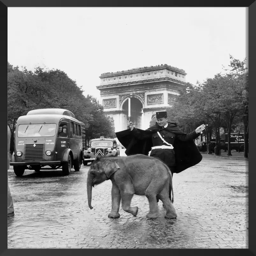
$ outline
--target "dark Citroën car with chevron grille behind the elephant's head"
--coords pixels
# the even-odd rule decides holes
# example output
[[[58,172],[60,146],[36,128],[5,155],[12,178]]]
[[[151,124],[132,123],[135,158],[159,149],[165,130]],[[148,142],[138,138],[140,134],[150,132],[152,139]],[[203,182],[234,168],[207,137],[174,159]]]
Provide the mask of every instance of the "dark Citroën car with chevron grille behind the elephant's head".
[[[84,150],[83,164],[93,162],[97,156],[117,157],[119,155],[120,150],[117,148],[116,140],[101,136],[99,139],[92,139],[90,148]]]

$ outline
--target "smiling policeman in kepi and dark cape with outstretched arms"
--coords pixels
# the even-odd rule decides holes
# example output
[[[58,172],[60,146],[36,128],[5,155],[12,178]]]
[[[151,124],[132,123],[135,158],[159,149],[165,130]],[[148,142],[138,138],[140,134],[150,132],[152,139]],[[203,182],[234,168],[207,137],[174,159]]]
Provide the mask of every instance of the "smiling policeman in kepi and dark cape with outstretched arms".
[[[126,148],[126,155],[156,157],[165,162],[172,174],[197,165],[202,155],[194,139],[205,129],[205,125],[186,134],[178,128],[177,123],[168,122],[166,111],[157,112],[156,118],[157,122],[146,130],[135,128],[132,122],[127,121],[130,129],[116,133],[117,139]]]

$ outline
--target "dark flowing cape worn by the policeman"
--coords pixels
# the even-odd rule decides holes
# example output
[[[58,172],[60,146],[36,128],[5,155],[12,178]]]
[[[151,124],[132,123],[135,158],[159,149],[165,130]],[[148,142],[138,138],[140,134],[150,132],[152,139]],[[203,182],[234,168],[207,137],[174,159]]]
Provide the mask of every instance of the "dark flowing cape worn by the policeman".
[[[132,134],[132,131],[129,129],[116,132],[116,137],[120,143],[126,148],[126,155],[136,155],[143,154],[148,156],[148,152],[151,150],[152,144],[152,134],[160,131],[160,126],[157,123],[147,130],[141,130],[136,128],[142,134],[142,138],[138,139]],[[168,122],[167,128],[164,128],[169,132],[174,133],[175,135],[186,135],[181,131],[177,123]],[[200,135],[200,134],[199,134]],[[195,136],[196,138],[197,136]],[[197,146],[194,143],[194,140],[181,141],[176,137],[174,141],[174,151],[175,151],[175,173],[182,172],[187,168],[197,165],[202,160],[202,155],[199,152]]]

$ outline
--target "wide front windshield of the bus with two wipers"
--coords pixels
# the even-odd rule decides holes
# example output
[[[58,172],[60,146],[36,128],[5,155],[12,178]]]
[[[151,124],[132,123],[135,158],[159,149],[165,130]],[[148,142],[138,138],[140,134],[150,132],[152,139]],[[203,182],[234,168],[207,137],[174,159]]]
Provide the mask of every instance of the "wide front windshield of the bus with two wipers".
[[[56,124],[20,124],[18,137],[51,137],[55,135]]]

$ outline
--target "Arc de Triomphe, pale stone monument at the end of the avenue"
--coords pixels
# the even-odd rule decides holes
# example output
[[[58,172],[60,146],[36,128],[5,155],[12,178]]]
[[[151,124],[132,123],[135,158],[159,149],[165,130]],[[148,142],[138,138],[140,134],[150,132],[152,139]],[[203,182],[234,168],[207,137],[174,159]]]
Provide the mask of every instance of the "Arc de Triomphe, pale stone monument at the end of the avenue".
[[[128,98],[131,98],[131,121],[144,130],[157,111],[166,111],[174,105],[185,84],[185,71],[165,64],[101,74],[97,89],[100,103],[105,113],[113,117],[118,132],[127,129]]]

